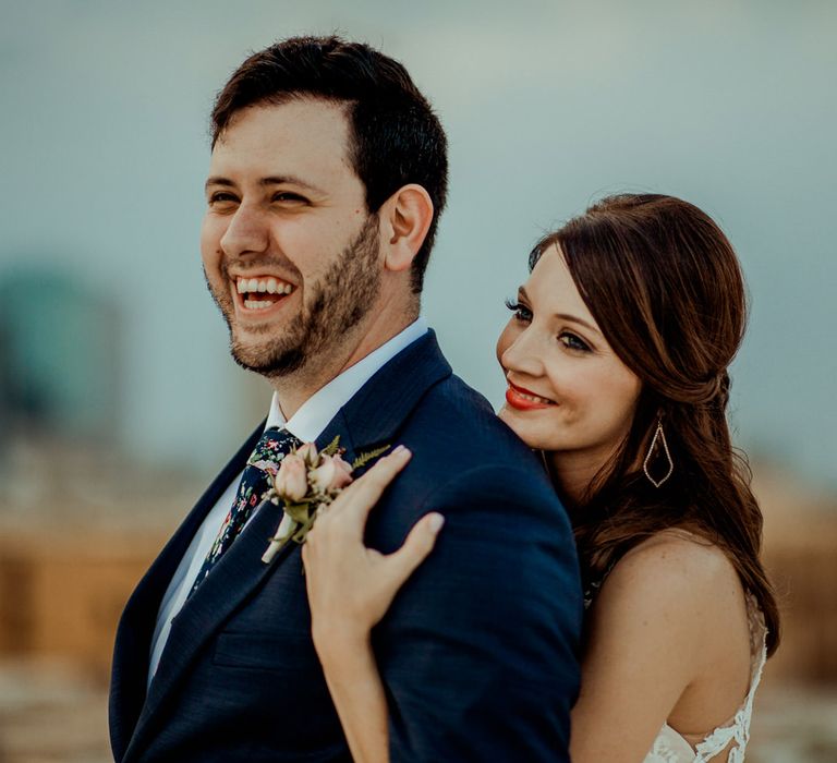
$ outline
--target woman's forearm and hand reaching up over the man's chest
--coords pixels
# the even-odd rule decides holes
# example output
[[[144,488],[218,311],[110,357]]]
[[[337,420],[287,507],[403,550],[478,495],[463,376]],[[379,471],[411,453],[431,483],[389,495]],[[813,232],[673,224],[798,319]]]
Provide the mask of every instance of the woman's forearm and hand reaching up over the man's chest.
[[[409,460],[405,448],[380,459],[323,511],[302,547],[314,646],[357,763],[389,761],[387,700],[371,631],[444,523],[441,514],[427,514],[393,554],[364,546],[372,507]]]

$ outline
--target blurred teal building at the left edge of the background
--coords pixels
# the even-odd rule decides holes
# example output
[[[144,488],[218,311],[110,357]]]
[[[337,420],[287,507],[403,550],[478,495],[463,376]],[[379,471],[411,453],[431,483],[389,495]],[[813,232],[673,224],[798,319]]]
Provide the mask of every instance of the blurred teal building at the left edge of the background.
[[[8,502],[83,494],[94,464],[118,456],[122,328],[118,305],[77,277],[0,272],[0,496]]]

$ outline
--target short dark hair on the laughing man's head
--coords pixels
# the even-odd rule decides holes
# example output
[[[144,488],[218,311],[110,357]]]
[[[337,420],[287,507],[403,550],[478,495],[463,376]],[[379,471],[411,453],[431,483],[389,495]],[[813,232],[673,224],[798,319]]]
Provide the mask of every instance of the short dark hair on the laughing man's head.
[[[369,213],[408,183],[427,191],[433,222],[412,269],[413,292],[421,292],[448,189],[447,140],[427,99],[398,61],[367,45],[291,37],[254,53],[230,77],[213,109],[213,146],[238,111],[295,97],[347,105],[349,157]]]

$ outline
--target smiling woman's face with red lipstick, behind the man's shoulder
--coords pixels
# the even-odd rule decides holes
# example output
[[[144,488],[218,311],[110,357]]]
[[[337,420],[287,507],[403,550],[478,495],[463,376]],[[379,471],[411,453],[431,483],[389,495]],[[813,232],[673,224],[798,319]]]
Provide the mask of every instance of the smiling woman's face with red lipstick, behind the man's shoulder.
[[[610,349],[551,246],[518,293],[497,341],[508,383],[499,416],[531,448],[594,472],[628,433],[640,379]]]

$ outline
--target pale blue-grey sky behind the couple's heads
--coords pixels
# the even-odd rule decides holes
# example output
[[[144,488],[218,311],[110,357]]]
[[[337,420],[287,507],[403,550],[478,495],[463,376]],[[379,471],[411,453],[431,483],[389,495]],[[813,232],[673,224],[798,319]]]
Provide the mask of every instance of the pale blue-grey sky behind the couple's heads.
[[[460,375],[499,402],[502,300],[545,229],[605,192],[674,193],[718,220],[750,284],[739,441],[837,485],[837,4],[3,5],[0,278],[62,268],[121,305],[138,457],[208,473],[267,407],[201,275],[207,114],[250,50],[338,31],[402,60],[448,130],[425,313]]]

